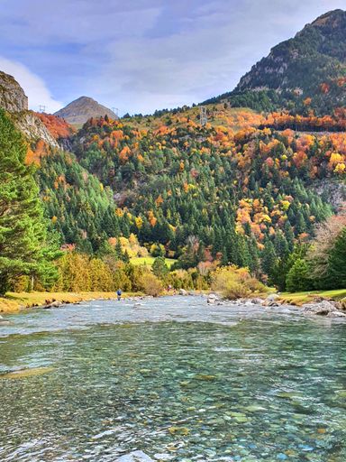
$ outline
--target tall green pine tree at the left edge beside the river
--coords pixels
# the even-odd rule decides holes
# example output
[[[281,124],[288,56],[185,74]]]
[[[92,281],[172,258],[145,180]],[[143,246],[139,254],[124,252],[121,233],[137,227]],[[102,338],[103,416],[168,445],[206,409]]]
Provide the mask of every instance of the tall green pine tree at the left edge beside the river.
[[[22,135],[0,110],[0,293],[11,279],[40,272],[46,227]]]

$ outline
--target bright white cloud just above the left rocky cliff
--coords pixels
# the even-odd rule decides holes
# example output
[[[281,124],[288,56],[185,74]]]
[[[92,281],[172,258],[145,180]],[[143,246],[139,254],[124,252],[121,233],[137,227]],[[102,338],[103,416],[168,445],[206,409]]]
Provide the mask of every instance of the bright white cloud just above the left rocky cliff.
[[[29,107],[37,111],[39,106],[46,106],[46,112],[53,113],[64,106],[50,95],[45,82],[20,62],[6,60],[0,57],[0,69],[17,80],[29,98]]]

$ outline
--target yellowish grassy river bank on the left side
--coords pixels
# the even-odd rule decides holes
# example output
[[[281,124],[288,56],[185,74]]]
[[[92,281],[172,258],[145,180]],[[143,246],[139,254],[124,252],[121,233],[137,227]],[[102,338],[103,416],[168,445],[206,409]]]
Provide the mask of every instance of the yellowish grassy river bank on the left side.
[[[125,292],[123,298],[139,297],[140,292]],[[88,300],[116,299],[115,292],[7,292],[0,298],[0,313],[15,313],[23,309],[38,308],[58,303],[79,303]]]

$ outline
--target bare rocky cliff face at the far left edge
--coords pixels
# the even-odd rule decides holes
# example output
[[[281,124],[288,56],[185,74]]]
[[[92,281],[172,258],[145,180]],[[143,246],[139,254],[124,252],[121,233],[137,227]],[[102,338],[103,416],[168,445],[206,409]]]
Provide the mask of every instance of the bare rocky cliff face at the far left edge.
[[[28,110],[28,97],[19,83],[0,70],[0,107],[8,112]]]

